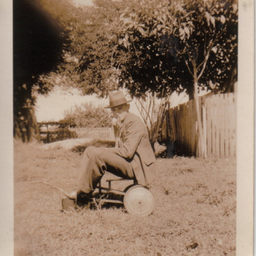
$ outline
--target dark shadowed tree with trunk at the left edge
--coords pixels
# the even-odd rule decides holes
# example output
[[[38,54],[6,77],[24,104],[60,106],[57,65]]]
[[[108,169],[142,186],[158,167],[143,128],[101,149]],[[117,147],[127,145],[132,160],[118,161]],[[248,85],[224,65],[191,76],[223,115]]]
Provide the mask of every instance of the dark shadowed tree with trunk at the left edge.
[[[67,42],[67,31],[47,10],[47,3],[54,2],[60,15],[61,6],[71,6],[65,0],[13,1],[14,136],[23,141],[40,139],[33,90],[40,76],[56,69]],[[37,90],[47,93],[51,85],[38,84]]]

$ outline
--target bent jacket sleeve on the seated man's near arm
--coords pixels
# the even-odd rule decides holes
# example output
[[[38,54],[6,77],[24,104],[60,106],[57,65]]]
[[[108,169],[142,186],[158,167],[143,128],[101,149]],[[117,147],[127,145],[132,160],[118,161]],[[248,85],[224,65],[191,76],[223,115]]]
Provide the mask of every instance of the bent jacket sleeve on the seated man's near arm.
[[[144,126],[141,120],[131,120],[126,127],[123,147],[109,148],[109,150],[119,156],[131,159],[143,136]]]

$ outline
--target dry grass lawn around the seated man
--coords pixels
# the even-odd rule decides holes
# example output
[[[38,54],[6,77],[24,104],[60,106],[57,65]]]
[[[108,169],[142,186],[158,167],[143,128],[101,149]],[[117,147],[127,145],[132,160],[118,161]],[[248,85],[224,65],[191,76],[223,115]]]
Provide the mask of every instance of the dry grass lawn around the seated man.
[[[60,191],[33,183],[70,188],[80,162],[71,150],[15,142],[16,256],[236,255],[234,160],[157,159],[157,205],[146,218],[114,206],[60,212]]]

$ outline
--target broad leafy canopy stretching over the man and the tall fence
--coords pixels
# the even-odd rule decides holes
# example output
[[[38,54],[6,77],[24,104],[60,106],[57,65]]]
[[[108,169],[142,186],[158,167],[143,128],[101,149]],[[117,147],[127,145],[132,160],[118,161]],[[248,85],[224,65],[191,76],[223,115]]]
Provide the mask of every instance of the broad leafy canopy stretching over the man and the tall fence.
[[[74,11],[60,72],[84,94],[104,96],[125,86],[132,97],[186,90],[193,99],[194,66],[203,90],[232,90],[237,79],[236,0],[94,3]]]

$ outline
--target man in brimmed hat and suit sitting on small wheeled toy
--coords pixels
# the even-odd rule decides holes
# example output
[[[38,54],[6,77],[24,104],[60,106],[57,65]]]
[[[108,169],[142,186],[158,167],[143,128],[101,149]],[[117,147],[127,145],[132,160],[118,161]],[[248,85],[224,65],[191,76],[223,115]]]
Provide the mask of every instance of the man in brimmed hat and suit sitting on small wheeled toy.
[[[136,179],[147,186],[157,179],[156,157],[148,140],[148,132],[141,119],[129,113],[131,100],[123,92],[109,93],[109,106],[116,118],[115,148],[88,147],[84,151],[77,189],[68,198],[74,205],[89,205],[92,192],[106,171],[118,177]],[[63,201],[63,208],[66,202]]]

